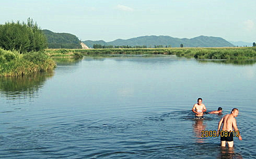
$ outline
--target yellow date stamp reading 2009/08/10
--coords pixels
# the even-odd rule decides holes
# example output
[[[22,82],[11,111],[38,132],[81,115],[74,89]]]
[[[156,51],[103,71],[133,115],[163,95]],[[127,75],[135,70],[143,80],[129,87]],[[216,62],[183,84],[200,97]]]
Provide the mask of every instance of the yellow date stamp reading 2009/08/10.
[[[235,131],[227,131],[227,130],[221,130],[221,131],[216,131],[216,130],[202,130],[201,131],[201,137],[229,137],[230,133],[232,132],[233,137],[239,137],[239,130]]]

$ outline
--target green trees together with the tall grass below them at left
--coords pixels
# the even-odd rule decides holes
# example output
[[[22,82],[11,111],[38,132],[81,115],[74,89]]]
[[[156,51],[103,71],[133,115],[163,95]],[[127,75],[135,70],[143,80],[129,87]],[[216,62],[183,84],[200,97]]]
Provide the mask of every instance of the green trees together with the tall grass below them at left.
[[[52,70],[56,64],[44,53],[46,38],[37,23],[6,22],[0,25],[0,77],[27,76]]]

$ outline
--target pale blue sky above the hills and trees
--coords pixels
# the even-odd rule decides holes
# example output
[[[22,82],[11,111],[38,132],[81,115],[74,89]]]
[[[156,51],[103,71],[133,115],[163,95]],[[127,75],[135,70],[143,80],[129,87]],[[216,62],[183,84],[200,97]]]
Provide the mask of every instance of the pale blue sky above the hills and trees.
[[[82,41],[205,35],[256,42],[255,8],[255,0],[3,0],[0,23],[30,17],[41,29],[72,33]]]

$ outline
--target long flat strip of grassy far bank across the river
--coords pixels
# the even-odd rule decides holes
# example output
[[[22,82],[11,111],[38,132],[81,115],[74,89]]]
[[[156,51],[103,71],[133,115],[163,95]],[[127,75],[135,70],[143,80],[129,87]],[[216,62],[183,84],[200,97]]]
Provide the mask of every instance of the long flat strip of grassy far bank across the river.
[[[196,59],[256,59],[256,47],[227,48],[99,48],[99,49],[58,49],[48,50],[51,56],[106,55],[106,54],[163,54]]]

